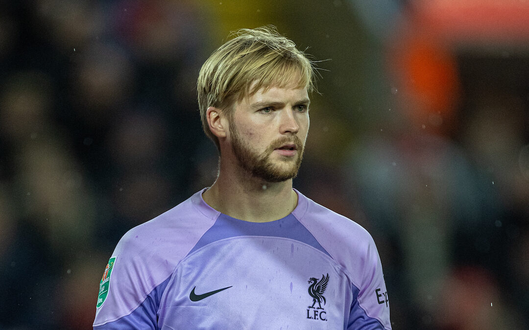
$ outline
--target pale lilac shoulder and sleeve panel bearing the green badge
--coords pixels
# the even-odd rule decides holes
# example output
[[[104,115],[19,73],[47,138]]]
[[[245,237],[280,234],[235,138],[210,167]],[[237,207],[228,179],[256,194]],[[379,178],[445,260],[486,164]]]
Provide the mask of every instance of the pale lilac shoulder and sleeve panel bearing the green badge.
[[[202,204],[200,193],[123,235],[112,253],[108,285],[99,288],[104,298],[98,303],[94,325],[129,315],[149,295],[158,294],[178,262],[216,220],[215,211]]]

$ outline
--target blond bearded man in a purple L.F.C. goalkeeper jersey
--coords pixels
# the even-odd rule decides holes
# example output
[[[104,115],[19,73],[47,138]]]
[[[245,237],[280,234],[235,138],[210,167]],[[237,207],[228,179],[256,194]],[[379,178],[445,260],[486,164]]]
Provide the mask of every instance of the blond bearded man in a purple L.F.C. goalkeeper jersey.
[[[215,183],[127,232],[96,329],[391,329],[375,243],[292,188],[313,67],[275,30],[243,29],[198,77]]]

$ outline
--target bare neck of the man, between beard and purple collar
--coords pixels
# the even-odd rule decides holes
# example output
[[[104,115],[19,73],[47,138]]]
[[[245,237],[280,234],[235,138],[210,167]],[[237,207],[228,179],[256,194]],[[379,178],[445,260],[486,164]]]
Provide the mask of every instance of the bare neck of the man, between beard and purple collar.
[[[205,191],[204,201],[217,211],[250,222],[269,222],[284,218],[297,205],[298,196],[292,179],[266,182],[241,171],[227,171],[223,166],[215,183]]]

